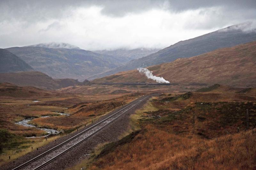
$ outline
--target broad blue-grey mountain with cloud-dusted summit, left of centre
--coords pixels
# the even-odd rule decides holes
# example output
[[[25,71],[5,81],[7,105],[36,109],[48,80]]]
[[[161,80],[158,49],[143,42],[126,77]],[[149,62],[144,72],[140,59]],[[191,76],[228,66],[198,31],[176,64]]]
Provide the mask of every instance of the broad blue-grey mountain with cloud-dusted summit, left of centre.
[[[115,56],[93,53],[75,48],[75,46],[74,48],[71,47],[73,46],[60,43],[6,49],[20,57],[34,70],[43,72],[52,78],[84,80],[89,76],[126,63],[126,61]]]

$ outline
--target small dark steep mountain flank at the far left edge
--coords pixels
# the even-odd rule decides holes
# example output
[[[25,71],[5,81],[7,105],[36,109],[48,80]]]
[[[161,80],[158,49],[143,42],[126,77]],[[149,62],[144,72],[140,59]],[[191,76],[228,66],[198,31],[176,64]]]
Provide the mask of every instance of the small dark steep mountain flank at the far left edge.
[[[0,48],[0,73],[16,71],[33,71],[33,68],[8,50]]]

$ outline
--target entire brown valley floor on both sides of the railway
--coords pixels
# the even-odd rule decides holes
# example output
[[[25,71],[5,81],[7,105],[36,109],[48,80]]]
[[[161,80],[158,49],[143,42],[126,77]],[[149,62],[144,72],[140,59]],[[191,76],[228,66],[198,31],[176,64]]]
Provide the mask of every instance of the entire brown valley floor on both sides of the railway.
[[[223,85],[199,88],[196,85],[84,85],[39,92],[3,85],[1,165],[33,151],[31,147],[41,148],[84,125],[89,126],[141,95],[158,93],[159,97],[153,97],[130,116],[127,126],[130,130],[119,134],[119,139],[130,133],[128,136],[97,145],[89,159],[79,159],[80,163],[71,169],[256,168],[256,132],[246,128],[245,117],[248,109],[249,129],[252,129],[256,123],[256,89]],[[180,89],[199,90],[179,93]],[[11,94],[15,91],[19,97],[8,96],[9,91]],[[50,117],[40,117],[46,115]],[[36,127],[63,132],[48,136],[46,141],[40,138],[45,135],[44,131],[15,124],[30,117],[34,119],[29,123]],[[25,138],[31,136],[37,137]]]

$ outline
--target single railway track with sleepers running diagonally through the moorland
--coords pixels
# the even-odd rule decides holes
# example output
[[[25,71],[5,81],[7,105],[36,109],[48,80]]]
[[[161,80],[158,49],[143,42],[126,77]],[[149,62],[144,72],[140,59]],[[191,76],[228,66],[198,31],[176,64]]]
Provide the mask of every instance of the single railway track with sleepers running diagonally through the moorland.
[[[150,95],[149,95],[150,96]],[[127,106],[121,107],[118,109],[114,114],[108,116],[104,120],[96,123],[95,125],[91,126],[88,129],[80,132],[79,134],[75,135],[74,137],[69,138],[65,142],[51,148],[50,150],[38,155],[37,157],[25,162],[24,164],[15,167],[13,170],[36,170],[40,169],[41,167],[45,166],[53,159],[57,158],[61,154],[69,151],[76,145],[82,143],[84,140],[92,137],[98,131],[106,127],[108,124],[116,120],[118,117],[126,113],[128,110],[132,109],[133,107],[137,106],[141,101],[146,100],[148,96],[140,97],[137,100],[130,102]]]

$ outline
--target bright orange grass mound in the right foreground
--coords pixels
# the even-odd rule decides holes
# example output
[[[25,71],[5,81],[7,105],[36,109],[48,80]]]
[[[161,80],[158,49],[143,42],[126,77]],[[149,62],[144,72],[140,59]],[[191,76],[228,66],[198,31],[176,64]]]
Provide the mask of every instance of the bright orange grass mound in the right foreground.
[[[253,169],[255,142],[255,130],[205,140],[147,125],[131,143],[98,159],[91,169]]]

